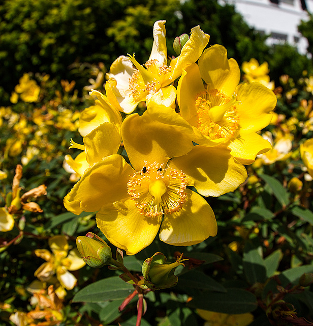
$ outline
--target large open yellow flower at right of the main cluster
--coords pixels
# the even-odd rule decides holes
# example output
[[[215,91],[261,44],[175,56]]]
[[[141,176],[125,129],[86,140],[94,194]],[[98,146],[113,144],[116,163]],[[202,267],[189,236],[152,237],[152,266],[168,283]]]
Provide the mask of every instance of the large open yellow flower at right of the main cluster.
[[[199,66],[184,68],[177,100],[197,144],[224,144],[242,163],[251,164],[257,154],[271,148],[257,131],[270,123],[276,97],[259,83],[238,86],[239,80],[236,61],[227,59],[224,46],[213,45],[203,52]]]

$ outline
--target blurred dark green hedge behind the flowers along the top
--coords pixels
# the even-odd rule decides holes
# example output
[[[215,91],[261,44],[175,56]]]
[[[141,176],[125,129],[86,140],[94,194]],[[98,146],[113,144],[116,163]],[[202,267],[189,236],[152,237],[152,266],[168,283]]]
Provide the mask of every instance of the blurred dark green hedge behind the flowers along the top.
[[[24,72],[40,72],[87,84],[90,64],[106,69],[119,55],[136,53],[145,62],[152,45],[153,22],[169,26],[169,55],[174,38],[200,24],[209,45],[222,44],[238,62],[254,57],[267,61],[276,84],[281,74],[298,79],[312,64],[290,45],[270,47],[266,35],[250,28],[230,5],[215,0],[4,0],[0,5],[0,95],[9,93]],[[300,31],[312,43],[311,22]],[[310,50],[311,51],[311,50]],[[294,59],[294,60],[292,60]],[[83,63],[84,65],[78,65]]]

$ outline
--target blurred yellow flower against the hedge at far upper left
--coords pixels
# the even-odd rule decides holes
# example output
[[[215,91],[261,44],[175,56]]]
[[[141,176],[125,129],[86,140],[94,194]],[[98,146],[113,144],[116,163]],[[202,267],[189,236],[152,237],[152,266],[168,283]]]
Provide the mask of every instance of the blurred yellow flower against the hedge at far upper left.
[[[39,97],[40,87],[37,85],[36,81],[29,78],[27,73],[19,79],[19,84],[15,86],[15,92],[20,95],[21,100],[24,102],[36,102]],[[13,103],[16,100],[16,96],[12,94],[11,100]]]

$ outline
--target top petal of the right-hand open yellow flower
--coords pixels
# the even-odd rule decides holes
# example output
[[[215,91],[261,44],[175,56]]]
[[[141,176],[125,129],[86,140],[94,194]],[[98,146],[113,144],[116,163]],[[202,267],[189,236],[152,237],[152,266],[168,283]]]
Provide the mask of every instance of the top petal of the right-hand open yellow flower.
[[[217,89],[233,96],[240,80],[240,69],[234,59],[227,59],[224,46],[215,44],[206,49],[199,59],[202,78],[209,89]]]

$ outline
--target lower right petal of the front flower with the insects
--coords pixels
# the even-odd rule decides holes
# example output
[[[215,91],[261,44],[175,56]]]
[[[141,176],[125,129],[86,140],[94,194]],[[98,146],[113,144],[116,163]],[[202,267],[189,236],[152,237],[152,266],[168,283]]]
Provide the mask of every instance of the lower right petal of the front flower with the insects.
[[[173,246],[191,246],[217,233],[210,205],[197,193],[185,189],[187,199],[179,212],[165,214],[160,239]]]

